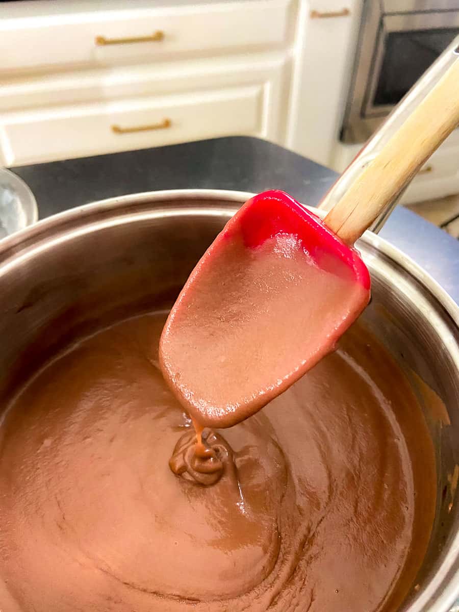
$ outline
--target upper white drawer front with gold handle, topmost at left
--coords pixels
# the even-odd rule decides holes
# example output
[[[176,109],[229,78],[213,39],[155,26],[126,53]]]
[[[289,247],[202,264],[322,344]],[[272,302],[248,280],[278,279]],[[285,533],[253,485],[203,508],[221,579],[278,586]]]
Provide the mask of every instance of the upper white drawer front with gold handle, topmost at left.
[[[273,48],[287,40],[293,10],[291,0],[246,0],[140,8],[132,2],[123,10],[70,12],[67,8],[58,14],[50,2],[45,3],[48,14],[42,8],[30,15],[34,5],[27,4],[27,16],[15,17],[21,8],[17,7],[12,17],[0,19],[0,72]]]

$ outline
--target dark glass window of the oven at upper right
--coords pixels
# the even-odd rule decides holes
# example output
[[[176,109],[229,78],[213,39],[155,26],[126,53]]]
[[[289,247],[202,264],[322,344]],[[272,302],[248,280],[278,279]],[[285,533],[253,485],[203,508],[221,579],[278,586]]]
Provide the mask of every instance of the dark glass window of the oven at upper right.
[[[457,34],[459,28],[388,32],[373,106],[400,102]]]

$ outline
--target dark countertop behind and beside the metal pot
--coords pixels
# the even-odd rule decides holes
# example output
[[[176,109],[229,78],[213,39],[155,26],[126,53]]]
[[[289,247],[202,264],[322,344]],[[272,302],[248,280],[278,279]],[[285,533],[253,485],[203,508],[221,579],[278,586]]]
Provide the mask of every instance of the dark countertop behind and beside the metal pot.
[[[212,188],[285,190],[315,206],[337,174],[258,138],[233,136],[11,168],[48,217],[73,206],[129,193]],[[459,241],[398,207],[381,236],[411,256],[459,304]]]

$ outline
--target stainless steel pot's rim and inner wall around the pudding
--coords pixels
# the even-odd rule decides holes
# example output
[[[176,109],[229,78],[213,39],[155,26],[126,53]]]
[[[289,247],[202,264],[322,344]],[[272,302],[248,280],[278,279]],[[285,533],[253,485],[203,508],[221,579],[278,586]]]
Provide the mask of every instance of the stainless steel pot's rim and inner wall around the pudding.
[[[123,196],[72,209],[0,243],[0,394],[100,322],[170,305],[198,258],[250,196],[183,190]],[[411,259],[365,233],[357,245],[373,297],[362,319],[417,393],[438,461],[436,520],[405,605],[446,612],[459,593],[459,308]],[[103,299],[100,296],[103,295]],[[431,411],[425,385],[446,406]],[[428,395],[428,394],[427,394]],[[442,422],[443,421],[443,422]]]

